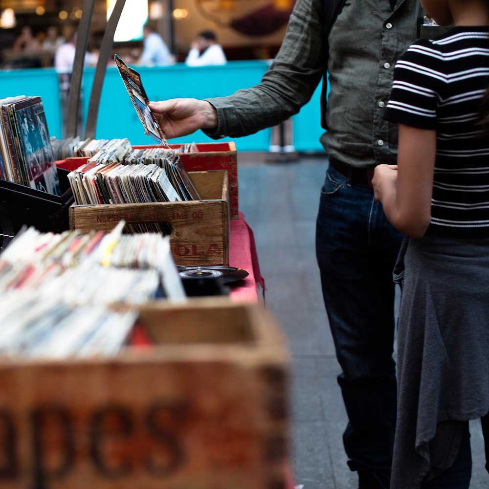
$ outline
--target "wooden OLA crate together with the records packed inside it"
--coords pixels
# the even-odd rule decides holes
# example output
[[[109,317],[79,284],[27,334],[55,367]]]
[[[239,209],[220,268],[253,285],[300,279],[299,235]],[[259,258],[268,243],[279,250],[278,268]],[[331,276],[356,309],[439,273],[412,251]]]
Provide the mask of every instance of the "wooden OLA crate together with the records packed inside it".
[[[187,173],[167,149],[132,149],[126,140],[89,157],[68,175],[76,205],[72,229],[171,236],[178,265],[229,265],[229,190],[226,171]]]

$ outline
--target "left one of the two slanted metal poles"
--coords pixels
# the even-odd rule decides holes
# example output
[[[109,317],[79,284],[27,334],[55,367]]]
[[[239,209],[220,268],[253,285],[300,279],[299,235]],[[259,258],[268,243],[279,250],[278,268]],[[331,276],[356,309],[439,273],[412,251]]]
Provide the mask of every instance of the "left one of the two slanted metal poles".
[[[93,14],[95,0],[84,0],[83,14],[78,26],[76,38],[75,60],[73,62],[73,72],[68,96],[68,112],[66,136],[75,137],[78,129],[78,109],[80,107],[80,91],[82,88],[83,67],[85,65],[85,53],[89,42],[90,25]]]

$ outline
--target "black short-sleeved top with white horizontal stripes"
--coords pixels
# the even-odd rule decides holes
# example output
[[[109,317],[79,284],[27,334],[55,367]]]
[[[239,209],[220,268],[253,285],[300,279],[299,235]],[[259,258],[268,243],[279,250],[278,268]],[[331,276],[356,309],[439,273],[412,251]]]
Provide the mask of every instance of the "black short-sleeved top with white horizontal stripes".
[[[489,27],[455,27],[412,44],[397,62],[384,117],[437,132],[429,234],[489,237]]]

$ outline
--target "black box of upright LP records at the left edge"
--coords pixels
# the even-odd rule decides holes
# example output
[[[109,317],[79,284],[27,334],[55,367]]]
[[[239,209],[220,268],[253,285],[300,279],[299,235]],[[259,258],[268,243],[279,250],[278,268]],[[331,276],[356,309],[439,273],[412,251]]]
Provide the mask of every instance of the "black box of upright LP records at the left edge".
[[[0,100],[0,249],[21,229],[68,228],[73,195],[56,167],[40,97]]]

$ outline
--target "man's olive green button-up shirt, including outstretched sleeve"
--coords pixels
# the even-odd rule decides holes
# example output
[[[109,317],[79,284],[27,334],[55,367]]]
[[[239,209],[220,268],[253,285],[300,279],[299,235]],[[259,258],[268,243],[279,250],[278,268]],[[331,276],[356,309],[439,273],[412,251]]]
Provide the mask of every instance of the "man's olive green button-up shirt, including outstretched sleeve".
[[[328,58],[323,2],[297,0],[282,47],[259,85],[208,99],[218,113],[211,137],[275,126],[311,99]],[[329,36],[329,130],[321,136],[329,155],[356,168],[396,162],[397,128],[382,114],[394,64],[416,38],[423,15],[419,0],[398,0],[394,10],[387,0],[346,0]]]

